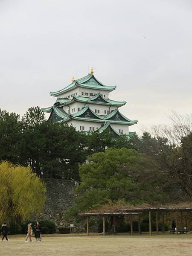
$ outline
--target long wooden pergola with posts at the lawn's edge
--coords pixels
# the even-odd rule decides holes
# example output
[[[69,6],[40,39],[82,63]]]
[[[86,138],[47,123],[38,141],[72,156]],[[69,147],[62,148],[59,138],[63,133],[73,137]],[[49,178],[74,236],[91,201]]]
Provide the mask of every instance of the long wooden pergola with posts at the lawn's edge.
[[[89,222],[88,218],[91,216],[102,216],[103,217],[103,235],[105,236],[105,217],[113,216],[113,233],[116,232],[115,229],[115,217],[116,216],[130,216],[130,224],[131,224],[131,235],[133,235],[133,222],[132,216],[138,215],[138,231],[141,233],[140,226],[140,215],[144,212],[148,212],[149,218],[149,235],[152,235],[152,224],[151,224],[151,213],[156,213],[156,232],[159,233],[159,222],[158,222],[158,214],[162,215],[162,225],[163,225],[163,233],[165,233],[165,224],[164,224],[164,214],[166,212],[175,212],[175,224],[176,224],[176,233],[178,234],[178,212],[180,212],[180,220],[181,220],[181,229],[183,229],[183,212],[192,212],[191,207],[139,207],[139,208],[127,208],[127,209],[118,209],[116,212],[89,212],[89,213],[79,213],[78,215],[82,217],[87,217],[87,235],[89,234]],[[187,227],[187,218],[185,215],[185,227]]]

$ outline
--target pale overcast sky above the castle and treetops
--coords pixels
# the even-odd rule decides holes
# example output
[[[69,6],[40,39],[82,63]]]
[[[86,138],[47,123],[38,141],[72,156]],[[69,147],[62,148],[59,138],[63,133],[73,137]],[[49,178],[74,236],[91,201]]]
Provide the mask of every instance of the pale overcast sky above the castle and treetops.
[[[191,113],[192,1],[0,0],[0,108],[51,106],[92,66],[131,131]]]

